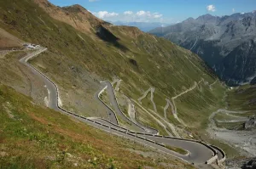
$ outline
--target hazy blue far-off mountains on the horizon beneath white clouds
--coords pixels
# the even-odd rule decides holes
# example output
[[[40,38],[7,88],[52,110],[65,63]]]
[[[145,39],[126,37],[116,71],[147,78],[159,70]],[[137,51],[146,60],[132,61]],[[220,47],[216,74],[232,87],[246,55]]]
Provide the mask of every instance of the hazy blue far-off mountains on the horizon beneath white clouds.
[[[129,25],[129,26],[135,26],[139,28],[141,31],[150,31],[153,30],[156,27],[161,26],[168,26],[172,24],[165,24],[160,22],[123,22],[123,21],[116,21],[111,22],[113,25]]]

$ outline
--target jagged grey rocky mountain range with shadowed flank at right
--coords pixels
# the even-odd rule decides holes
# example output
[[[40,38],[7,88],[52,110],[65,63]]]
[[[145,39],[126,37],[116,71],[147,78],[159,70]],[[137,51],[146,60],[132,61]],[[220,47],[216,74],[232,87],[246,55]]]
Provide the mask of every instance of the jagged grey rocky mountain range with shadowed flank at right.
[[[255,11],[222,17],[205,14],[149,32],[198,54],[229,85],[251,82],[256,76]]]

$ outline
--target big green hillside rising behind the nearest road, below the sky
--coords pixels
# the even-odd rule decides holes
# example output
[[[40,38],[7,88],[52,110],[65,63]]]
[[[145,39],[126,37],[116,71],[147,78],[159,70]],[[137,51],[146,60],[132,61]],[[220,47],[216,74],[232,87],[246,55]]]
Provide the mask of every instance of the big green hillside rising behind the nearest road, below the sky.
[[[102,80],[119,79],[118,100],[126,97],[135,105],[138,121],[164,134],[190,138],[191,132],[195,137],[203,134],[208,115],[223,106],[224,86],[189,50],[135,27],[110,25],[78,5],[59,8],[45,0],[35,2],[0,2],[1,27],[25,42],[48,48],[31,64],[58,85],[67,110],[108,119],[95,95]],[[10,69],[13,59],[10,54],[0,61]],[[35,84],[31,76],[11,72],[20,79],[7,75],[4,84],[19,81],[21,87],[15,89],[44,104],[47,90],[42,82]],[[29,92],[29,85],[34,92]],[[154,90],[140,104],[138,99],[148,88]],[[128,110],[127,104],[123,106]]]

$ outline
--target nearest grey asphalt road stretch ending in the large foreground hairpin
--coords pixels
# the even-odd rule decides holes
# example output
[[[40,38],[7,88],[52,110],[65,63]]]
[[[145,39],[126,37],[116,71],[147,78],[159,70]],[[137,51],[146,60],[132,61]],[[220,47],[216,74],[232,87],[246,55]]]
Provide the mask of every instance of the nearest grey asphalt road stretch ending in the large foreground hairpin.
[[[79,119],[79,121],[83,121],[84,123],[92,127],[102,129],[103,131],[106,132],[111,132],[121,137],[129,138],[140,144],[148,145],[154,149],[158,149],[162,153],[166,153],[167,155],[174,155],[177,158],[180,158],[183,161],[187,161],[189,163],[193,162],[195,164],[204,164],[206,161],[210,163],[214,161],[214,159],[212,159],[213,155],[217,157],[216,151],[214,149],[212,149],[207,144],[199,143],[195,140],[184,140],[180,138],[168,138],[148,133],[146,134],[142,132],[131,132],[123,127],[119,127],[116,124],[110,123],[106,120],[95,121],[91,120],[90,118],[86,118],[82,115],[78,115],[73,112],[64,110],[60,107],[58,103],[59,91],[56,84],[52,82],[47,76],[45,76],[40,70],[37,70],[35,67],[27,63],[29,59],[32,59],[33,57],[43,53],[46,50],[47,48],[43,48],[39,49],[33,54],[28,54],[26,55],[26,57],[20,59],[20,63],[28,66],[32,70],[33,74],[45,83],[45,86],[49,91],[49,108],[59,111],[62,114],[73,116],[74,118]],[[180,155],[177,152],[174,152],[170,149],[166,149],[165,144],[185,149],[189,152],[189,155]]]

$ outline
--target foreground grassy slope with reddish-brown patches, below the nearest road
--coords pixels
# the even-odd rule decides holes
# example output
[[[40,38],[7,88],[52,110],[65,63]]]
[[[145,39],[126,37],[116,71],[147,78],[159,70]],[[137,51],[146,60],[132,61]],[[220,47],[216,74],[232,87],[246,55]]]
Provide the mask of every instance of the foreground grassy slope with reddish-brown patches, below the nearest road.
[[[38,107],[2,84],[0,109],[1,168],[165,168],[127,150],[149,149]],[[189,167],[172,159],[156,161]]]

